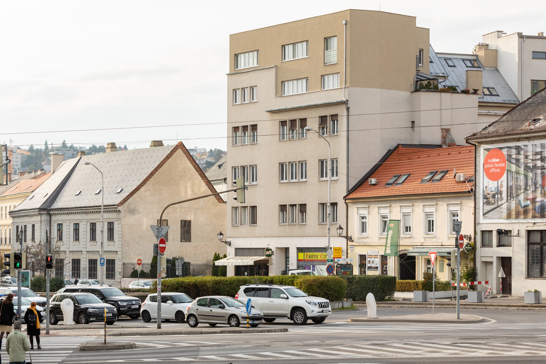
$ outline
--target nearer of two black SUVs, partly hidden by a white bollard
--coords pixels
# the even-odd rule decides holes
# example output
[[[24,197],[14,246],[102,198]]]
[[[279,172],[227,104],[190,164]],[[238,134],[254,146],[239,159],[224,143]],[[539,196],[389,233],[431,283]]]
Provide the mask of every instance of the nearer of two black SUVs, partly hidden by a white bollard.
[[[112,325],[118,318],[115,307],[104,303],[90,293],[63,292],[51,297],[49,309],[49,323],[51,325],[57,325],[59,321],[64,320],[61,309],[61,302],[64,299],[72,300],[74,304],[74,321],[78,324],[88,324],[92,321],[104,322],[104,309],[106,309],[106,324]]]

